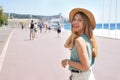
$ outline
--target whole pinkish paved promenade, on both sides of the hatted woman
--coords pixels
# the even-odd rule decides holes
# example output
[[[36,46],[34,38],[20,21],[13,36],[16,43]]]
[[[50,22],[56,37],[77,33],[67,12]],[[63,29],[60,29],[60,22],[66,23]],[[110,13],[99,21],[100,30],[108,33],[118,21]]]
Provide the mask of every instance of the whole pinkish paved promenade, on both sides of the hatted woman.
[[[68,80],[70,73],[61,66],[61,60],[70,55],[63,46],[69,34],[64,31],[58,38],[56,31],[48,31],[29,40],[29,30],[14,29],[0,80]],[[120,80],[120,40],[97,37],[97,42],[99,53],[93,67],[96,80]]]

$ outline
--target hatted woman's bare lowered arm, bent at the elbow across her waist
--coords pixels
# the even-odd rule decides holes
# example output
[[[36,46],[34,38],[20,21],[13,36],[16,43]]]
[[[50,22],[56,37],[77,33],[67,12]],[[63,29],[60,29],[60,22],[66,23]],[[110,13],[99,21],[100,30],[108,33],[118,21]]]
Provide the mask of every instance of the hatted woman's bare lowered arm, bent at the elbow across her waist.
[[[79,70],[88,70],[90,67],[90,62],[88,58],[86,42],[84,41],[83,38],[79,37],[75,40],[75,44],[77,46],[78,57],[80,59],[80,62],[68,60],[68,64]]]

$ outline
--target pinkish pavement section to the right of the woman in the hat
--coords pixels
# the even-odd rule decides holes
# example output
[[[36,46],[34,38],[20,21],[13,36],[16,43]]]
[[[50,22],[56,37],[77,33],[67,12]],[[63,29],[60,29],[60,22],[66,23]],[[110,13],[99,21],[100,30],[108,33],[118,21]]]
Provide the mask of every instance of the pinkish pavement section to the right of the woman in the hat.
[[[120,40],[98,37],[97,41],[96,80],[120,80]]]

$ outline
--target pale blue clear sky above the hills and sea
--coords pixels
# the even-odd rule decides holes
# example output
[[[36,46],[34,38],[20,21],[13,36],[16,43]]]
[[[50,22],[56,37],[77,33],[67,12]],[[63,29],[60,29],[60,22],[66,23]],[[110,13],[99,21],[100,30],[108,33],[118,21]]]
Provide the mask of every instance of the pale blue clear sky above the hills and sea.
[[[120,22],[120,0],[0,0],[0,5],[8,13],[45,16],[62,13],[67,18],[73,8],[80,7],[90,10],[98,23]]]

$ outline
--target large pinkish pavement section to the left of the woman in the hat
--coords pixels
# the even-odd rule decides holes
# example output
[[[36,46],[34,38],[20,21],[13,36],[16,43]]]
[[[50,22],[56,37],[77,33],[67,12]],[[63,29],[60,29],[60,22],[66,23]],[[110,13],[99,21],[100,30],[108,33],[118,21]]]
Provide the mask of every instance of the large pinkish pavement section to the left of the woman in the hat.
[[[68,55],[63,47],[65,36],[58,38],[57,32],[51,31],[31,41],[29,30],[15,29],[0,80],[67,80],[68,70],[61,66],[61,60]]]

